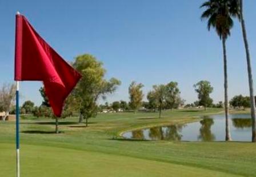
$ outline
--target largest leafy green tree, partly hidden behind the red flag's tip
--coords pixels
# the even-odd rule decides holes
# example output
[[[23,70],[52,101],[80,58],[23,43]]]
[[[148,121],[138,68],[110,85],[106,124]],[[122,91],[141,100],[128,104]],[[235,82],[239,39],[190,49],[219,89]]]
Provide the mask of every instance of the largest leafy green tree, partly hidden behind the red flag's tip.
[[[107,81],[104,77],[106,70],[103,63],[90,54],[79,55],[75,58],[73,67],[82,74],[82,78],[75,87],[74,94],[81,99],[81,107],[79,109],[79,122],[97,115],[97,100],[106,98],[107,94],[113,93],[121,82],[118,79],[111,78]]]

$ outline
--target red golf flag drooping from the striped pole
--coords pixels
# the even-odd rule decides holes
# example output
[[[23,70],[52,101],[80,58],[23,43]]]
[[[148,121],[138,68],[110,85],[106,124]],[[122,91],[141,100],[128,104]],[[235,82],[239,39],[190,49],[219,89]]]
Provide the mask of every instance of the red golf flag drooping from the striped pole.
[[[15,81],[43,81],[54,114],[61,116],[63,103],[80,78],[23,15],[16,15]]]

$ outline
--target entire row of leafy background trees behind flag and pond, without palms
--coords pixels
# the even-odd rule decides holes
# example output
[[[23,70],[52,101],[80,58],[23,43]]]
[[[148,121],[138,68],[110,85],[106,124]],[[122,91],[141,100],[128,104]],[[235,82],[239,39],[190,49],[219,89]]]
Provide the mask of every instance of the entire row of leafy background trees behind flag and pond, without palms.
[[[186,104],[185,100],[181,98],[181,91],[178,87],[178,82],[171,81],[167,84],[153,85],[152,89],[146,94],[143,94],[143,84],[135,81],[131,82],[129,92],[129,102],[124,100],[115,101],[112,104],[105,103],[98,105],[98,100],[105,99],[108,94],[113,93],[121,82],[116,78],[106,80],[106,70],[103,69],[103,64],[99,62],[93,55],[85,54],[79,55],[75,58],[75,62],[71,63],[83,75],[83,79],[78,83],[75,89],[67,97],[61,118],[67,116],[78,116],[79,123],[86,120],[86,126],[89,118],[95,117],[99,111],[103,109],[113,109],[118,111],[121,108],[124,111],[133,111],[134,114],[143,107],[144,110],[158,111],[159,118],[161,118],[162,110],[173,110],[179,106],[184,107],[198,107],[203,106],[205,110],[207,107],[222,107],[223,103],[219,102],[213,104],[213,99],[210,98],[213,92],[213,86],[209,81],[199,81],[193,85],[195,92],[198,95],[198,100],[192,104]],[[97,74],[96,74],[97,73]],[[45,94],[43,87],[39,89],[43,98],[40,106],[34,106],[34,103],[27,100],[20,107],[21,114],[33,114],[36,117],[54,118],[56,122],[56,132],[58,132],[58,118],[54,116],[50,108],[49,100]],[[147,102],[143,98],[147,98]],[[9,98],[9,99],[7,99]],[[0,88],[0,111],[11,112],[15,114],[14,107],[15,86],[3,85]],[[246,100],[246,101],[245,101]],[[230,100],[234,107],[248,107],[250,104],[249,97],[241,98],[235,96]],[[76,114],[74,114],[74,112]]]

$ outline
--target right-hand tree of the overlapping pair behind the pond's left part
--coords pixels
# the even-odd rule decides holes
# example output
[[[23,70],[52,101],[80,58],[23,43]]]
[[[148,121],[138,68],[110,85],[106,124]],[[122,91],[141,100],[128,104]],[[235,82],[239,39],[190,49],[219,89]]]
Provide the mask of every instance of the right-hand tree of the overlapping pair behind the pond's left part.
[[[178,82],[170,82],[166,85],[166,103],[171,110],[178,108],[181,104],[181,96],[178,88]]]

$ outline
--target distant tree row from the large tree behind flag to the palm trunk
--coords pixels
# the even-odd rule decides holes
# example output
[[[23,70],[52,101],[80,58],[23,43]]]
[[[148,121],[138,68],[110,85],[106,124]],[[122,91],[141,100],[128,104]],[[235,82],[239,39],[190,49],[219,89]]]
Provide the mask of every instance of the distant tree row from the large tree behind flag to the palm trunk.
[[[139,110],[158,111],[159,118],[161,118],[162,110],[173,110],[178,107],[198,107],[203,106],[205,110],[207,107],[222,107],[222,102],[217,104],[213,103],[213,99],[210,98],[213,87],[209,81],[199,81],[194,86],[195,92],[198,94],[198,100],[193,104],[186,104],[185,100],[181,98],[181,91],[178,87],[178,82],[169,82],[166,85],[153,85],[147,95],[147,102],[143,101],[142,83],[135,81],[131,82],[129,86],[129,102],[121,100],[121,102],[115,101],[112,104],[101,104],[100,110],[112,109],[118,111],[120,108],[125,111],[133,110],[134,114]]]

